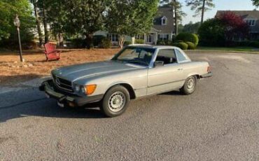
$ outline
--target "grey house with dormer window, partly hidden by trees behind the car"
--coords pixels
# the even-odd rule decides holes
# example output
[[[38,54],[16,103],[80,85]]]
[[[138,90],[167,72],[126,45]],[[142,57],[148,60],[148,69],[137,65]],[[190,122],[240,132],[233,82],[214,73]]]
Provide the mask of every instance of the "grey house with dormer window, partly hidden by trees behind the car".
[[[154,18],[151,30],[146,34],[137,35],[135,37],[126,36],[125,41],[134,43],[136,39],[143,39],[146,44],[156,44],[158,40],[172,41],[172,36],[174,35],[174,16],[172,10],[172,7],[169,6],[158,7],[158,13]],[[118,45],[118,34],[116,33],[97,31],[94,35],[111,38],[113,45]]]

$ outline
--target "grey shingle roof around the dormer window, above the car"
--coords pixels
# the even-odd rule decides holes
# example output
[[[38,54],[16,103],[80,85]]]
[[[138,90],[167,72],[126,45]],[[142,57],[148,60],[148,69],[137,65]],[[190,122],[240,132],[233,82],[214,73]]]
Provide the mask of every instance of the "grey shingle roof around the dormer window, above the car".
[[[167,17],[167,25],[161,25],[161,18],[163,16]],[[164,33],[171,33],[174,30],[174,16],[172,7],[162,6],[158,8],[158,13],[155,17],[153,28]]]

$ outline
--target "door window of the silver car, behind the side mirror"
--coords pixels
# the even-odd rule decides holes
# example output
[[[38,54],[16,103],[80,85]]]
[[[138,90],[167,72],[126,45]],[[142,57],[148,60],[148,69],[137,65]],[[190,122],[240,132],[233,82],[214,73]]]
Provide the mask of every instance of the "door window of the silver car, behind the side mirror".
[[[176,55],[174,49],[161,49],[158,51],[158,56],[155,61],[162,61],[164,64],[176,63]]]

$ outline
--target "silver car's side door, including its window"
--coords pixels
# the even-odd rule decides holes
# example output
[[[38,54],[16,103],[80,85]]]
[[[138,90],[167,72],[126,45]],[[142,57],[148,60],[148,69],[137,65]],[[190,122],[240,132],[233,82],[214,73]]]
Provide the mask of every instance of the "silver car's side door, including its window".
[[[148,69],[148,94],[175,90],[184,83],[183,69],[173,48],[158,50],[155,61],[163,61],[164,65]]]

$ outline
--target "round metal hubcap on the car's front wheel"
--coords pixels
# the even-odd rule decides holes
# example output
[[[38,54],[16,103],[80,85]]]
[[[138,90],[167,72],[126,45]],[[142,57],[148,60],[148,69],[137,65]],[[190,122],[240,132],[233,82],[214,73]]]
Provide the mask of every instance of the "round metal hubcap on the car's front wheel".
[[[125,105],[125,94],[123,92],[114,92],[109,98],[109,109],[113,112],[118,112]]]

